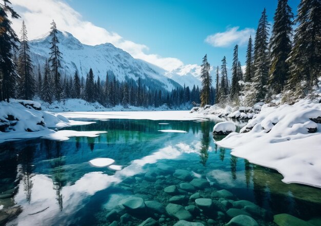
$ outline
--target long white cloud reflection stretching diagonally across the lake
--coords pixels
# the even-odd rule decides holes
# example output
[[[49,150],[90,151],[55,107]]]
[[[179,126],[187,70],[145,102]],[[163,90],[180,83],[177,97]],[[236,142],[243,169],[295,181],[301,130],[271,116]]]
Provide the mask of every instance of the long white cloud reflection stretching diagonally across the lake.
[[[194,146],[199,146],[195,142]],[[194,151],[191,151],[194,150]],[[64,222],[70,219],[70,215],[81,209],[85,204],[83,200],[96,192],[104,190],[112,184],[120,183],[127,177],[136,174],[144,173],[143,167],[147,164],[156,163],[160,159],[175,159],[183,153],[197,152],[195,148],[191,148],[185,143],[179,143],[177,148],[168,146],[159,149],[151,155],[145,156],[141,159],[136,159],[131,164],[122,170],[117,171],[114,175],[107,175],[103,172],[91,172],[85,174],[78,179],[73,185],[62,188],[61,194],[63,196],[63,210],[59,210],[56,200],[56,191],[53,189],[53,182],[51,178],[46,175],[35,175],[32,180],[34,186],[32,188],[32,198],[30,204],[26,201],[26,195],[23,184],[20,184],[19,191],[15,196],[15,201],[18,205],[23,206],[23,212],[12,222],[17,225],[51,225],[55,222]],[[21,182],[22,183],[22,182]],[[40,210],[44,212],[35,213]],[[69,216],[69,217],[67,217]],[[68,222],[65,222],[68,224]]]

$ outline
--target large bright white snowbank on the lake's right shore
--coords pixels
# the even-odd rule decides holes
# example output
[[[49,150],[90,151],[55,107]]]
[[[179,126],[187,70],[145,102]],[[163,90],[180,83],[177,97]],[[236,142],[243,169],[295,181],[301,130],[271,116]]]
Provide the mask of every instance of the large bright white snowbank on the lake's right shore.
[[[240,133],[217,145],[232,155],[276,169],[286,183],[321,188],[321,104],[300,100],[279,107],[262,106]]]

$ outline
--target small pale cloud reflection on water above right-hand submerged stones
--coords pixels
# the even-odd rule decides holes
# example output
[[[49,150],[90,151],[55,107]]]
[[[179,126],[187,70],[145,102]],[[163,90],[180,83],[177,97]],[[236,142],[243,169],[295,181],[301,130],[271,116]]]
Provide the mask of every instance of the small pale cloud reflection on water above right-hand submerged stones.
[[[211,184],[219,184],[224,188],[244,188],[246,179],[244,177],[244,171],[236,172],[236,179],[232,178],[230,172],[223,170],[212,170],[206,174],[206,178]]]

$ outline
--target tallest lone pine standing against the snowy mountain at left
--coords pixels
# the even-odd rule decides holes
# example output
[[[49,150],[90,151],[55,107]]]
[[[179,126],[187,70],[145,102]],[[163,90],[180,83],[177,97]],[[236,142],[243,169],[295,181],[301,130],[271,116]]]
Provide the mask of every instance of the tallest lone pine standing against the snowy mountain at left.
[[[62,53],[59,51],[59,48],[58,48],[58,44],[59,44],[59,40],[57,37],[58,30],[54,20],[52,20],[51,25],[52,25],[51,31],[50,31],[51,47],[50,47],[50,53],[49,53],[49,63],[51,66],[51,72],[53,74],[53,80],[54,80],[54,96],[56,100],[60,100],[62,89],[61,89],[61,83],[60,83],[61,74],[59,70],[62,68],[61,66]]]

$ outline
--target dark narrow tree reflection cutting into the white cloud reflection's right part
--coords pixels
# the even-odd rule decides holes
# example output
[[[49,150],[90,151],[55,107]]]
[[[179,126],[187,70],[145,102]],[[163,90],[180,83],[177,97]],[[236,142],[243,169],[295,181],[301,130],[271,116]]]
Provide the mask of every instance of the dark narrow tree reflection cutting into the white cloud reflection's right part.
[[[61,191],[65,186],[66,179],[64,178],[64,168],[65,160],[64,156],[61,153],[61,142],[57,141],[56,143],[56,153],[55,158],[51,160],[51,168],[52,168],[52,182],[53,189],[56,191],[56,200],[58,201],[59,210],[63,210],[63,195]]]

